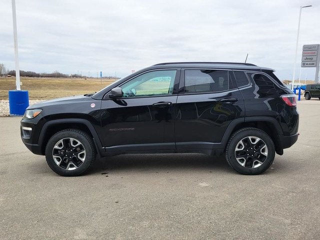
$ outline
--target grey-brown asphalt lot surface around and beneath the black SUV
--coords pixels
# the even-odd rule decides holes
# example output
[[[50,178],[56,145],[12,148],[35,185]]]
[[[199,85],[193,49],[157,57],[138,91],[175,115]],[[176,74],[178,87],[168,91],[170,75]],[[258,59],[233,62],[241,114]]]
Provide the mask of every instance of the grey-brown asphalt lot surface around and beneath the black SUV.
[[[263,174],[223,157],[121,155],[61,177],[0,118],[0,239],[320,239],[320,100]]]

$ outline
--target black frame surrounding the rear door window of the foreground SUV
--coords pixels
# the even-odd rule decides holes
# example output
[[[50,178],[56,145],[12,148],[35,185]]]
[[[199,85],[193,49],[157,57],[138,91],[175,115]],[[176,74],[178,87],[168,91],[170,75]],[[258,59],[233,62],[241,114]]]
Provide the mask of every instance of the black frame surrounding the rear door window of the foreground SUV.
[[[222,90],[222,91],[207,91],[207,92],[185,92],[185,70],[221,70],[221,71],[227,71],[227,76],[228,76],[228,84],[231,88],[227,90]],[[232,91],[236,89],[237,87],[233,84],[232,79],[231,79],[231,69],[223,69],[223,68],[182,68],[181,69],[181,76],[180,76],[180,83],[179,83],[179,90],[178,90],[178,95],[194,95],[194,94],[211,94],[211,93],[219,93],[219,92],[225,92],[225,91]]]

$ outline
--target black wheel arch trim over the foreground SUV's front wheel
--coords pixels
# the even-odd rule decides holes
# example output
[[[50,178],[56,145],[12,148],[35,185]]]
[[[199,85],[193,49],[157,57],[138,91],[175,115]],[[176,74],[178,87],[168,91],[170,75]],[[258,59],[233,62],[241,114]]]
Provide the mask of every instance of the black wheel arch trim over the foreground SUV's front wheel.
[[[45,146],[54,133],[67,128],[74,128],[86,132],[92,137],[97,153],[103,151],[104,148],[101,145],[99,136],[96,133],[92,124],[88,120],[78,118],[66,118],[50,120],[44,123],[38,139],[38,144],[40,146],[41,153],[44,154]]]

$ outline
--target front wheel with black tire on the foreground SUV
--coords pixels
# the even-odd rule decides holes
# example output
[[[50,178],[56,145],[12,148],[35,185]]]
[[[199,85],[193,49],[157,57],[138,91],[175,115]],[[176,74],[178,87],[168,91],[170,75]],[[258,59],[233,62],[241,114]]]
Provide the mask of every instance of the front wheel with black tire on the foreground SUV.
[[[60,143],[58,143],[59,141]],[[66,141],[66,143],[65,144],[61,143],[61,141],[62,142]],[[72,146],[71,141],[72,143],[75,143],[74,146]],[[69,144],[67,142],[69,142]],[[80,144],[76,145],[78,144],[77,142],[79,142]],[[60,144],[60,146],[61,145],[63,146],[61,150],[59,150],[58,147],[60,146],[58,144]],[[72,148],[73,148],[73,152],[75,153],[71,153]],[[67,149],[69,149],[69,151]],[[56,151],[58,151],[58,153]],[[77,153],[77,152],[83,152],[83,153]],[[59,155],[55,155],[54,157],[55,159],[53,159],[53,153],[59,154]],[[69,154],[70,156],[67,154]],[[71,154],[73,154],[74,156],[72,156]],[[56,157],[56,156],[60,156],[60,157]],[[83,174],[85,171],[87,171],[90,168],[90,166],[95,160],[95,156],[96,156],[96,149],[95,149],[92,138],[87,133],[77,129],[64,129],[55,133],[48,140],[45,147],[46,162],[54,172],[56,172],[61,176],[79,176]],[[80,160],[81,158],[82,160]],[[56,161],[59,161],[59,162],[56,163]],[[61,166],[59,166],[58,164]],[[75,168],[75,169],[72,169],[72,168]]]

